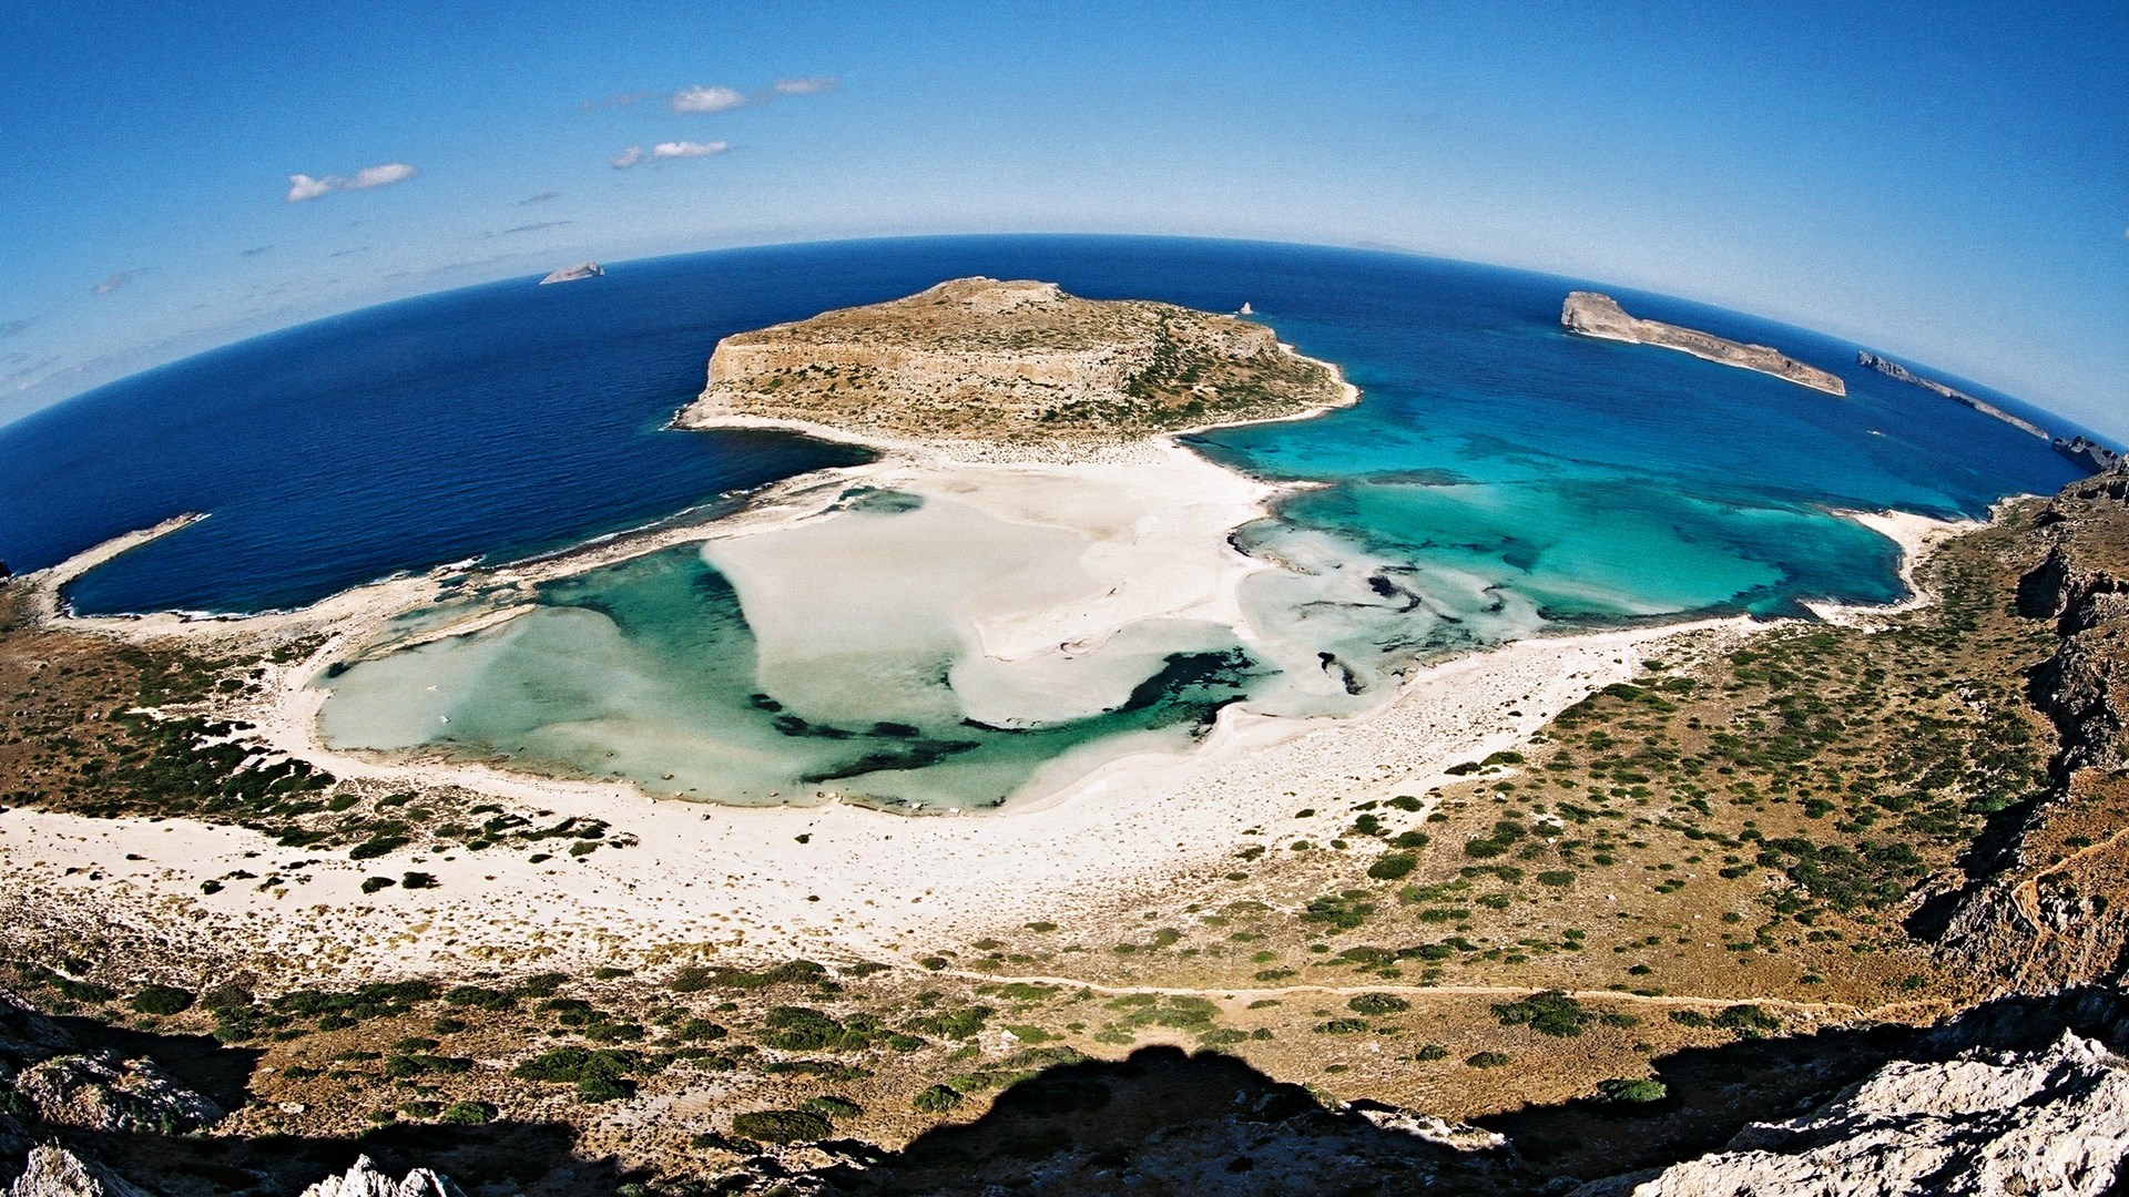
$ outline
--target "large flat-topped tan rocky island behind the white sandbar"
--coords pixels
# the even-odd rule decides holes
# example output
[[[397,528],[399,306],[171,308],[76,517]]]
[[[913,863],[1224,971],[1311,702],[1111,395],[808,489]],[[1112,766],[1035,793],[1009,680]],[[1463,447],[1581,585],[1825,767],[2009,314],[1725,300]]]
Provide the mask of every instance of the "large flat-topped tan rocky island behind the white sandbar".
[[[1260,324],[1056,283],[952,279],[739,332],[681,428],[735,422],[1007,445],[1116,445],[1352,403],[1337,368]]]

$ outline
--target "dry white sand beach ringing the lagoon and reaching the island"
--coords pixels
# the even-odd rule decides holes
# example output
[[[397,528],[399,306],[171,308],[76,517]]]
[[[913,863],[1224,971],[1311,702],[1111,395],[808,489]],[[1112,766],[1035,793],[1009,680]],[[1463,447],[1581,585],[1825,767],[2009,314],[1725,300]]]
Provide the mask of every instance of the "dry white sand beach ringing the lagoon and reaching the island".
[[[1343,375],[1339,386],[1346,405],[1358,400],[1358,390]],[[1337,407],[1284,420],[1307,420]],[[1145,503],[1124,488],[1130,496],[1122,505],[1130,518],[1111,524],[1128,535],[1109,545],[1120,556],[1105,564],[1105,577],[1113,581],[1103,592],[1107,605],[1088,603],[1071,620],[1037,609],[1041,618],[1016,622],[1011,611],[992,611],[981,624],[981,650],[1011,660],[1050,645],[1101,641],[1130,620],[1175,611],[1233,613],[1235,586],[1277,564],[1243,556],[1228,543],[1228,532],[1243,520],[1267,515],[1282,492],[1299,490],[1222,466],[1179,443],[1226,424],[1052,454],[1011,445],[971,454],[958,443],[867,437],[747,415],[688,424],[715,426],[779,428],[860,445],[877,456],[769,483],[752,492],[739,511],[711,520],[649,526],[477,569],[479,588],[492,592],[483,603],[390,647],[500,626],[528,611],[530,590],[554,577],[673,545],[700,543],[707,552],[717,541],[807,524],[835,509],[852,486],[958,488],[958,501],[1007,522],[1026,520],[1022,507],[1043,486],[1077,486],[1088,503],[1122,486],[1120,479],[1145,488],[1145,494],[1199,498],[1158,509],[1167,526],[1156,537],[1143,526]],[[1177,477],[1196,483],[1177,488]],[[1203,498],[1205,486],[1220,490]],[[1113,494],[1109,498],[1116,503]],[[1077,518],[1094,526],[1109,515],[1096,503],[1094,515],[1082,511]],[[1914,586],[1918,554],[1963,528],[1905,513],[1835,515],[1895,541],[1910,598],[1895,607],[1812,607],[1829,622],[1850,611],[1861,620],[1927,603],[1929,596]],[[1058,524],[1058,518],[1045,515],[1043,522]],[[66,579],[185,524],[189,520],[117,537],[26,577],[55,603]],[[1064,526],[1071,526],[1069,520]],[[1148,564],[1148,554],[1158,569]],[[1248,829],[1284,822],[1297,807],[1350,818],[1360,803],[1399,792],[1424,794],[1454,780],[1450,767],[1516,748],[1590,692],[1639,675],[1644,660],[1712,652],[1786,624],[1731,616],[1541,633],[1418,665],[1384,701],[1356,714],[1269,716],[1231,705],[1201,741],[1182,750],[1124,752],[1039,792],[1016,794],[1001,809],[909,818],[835,797],[820,805],[675,801],[632,782],[556,777],[485,760],[394,760],[328,748],[317,714],[330,694],[313,682],[330,665],[360,658],[394,616],[432,603],[439,579],[449,573],[464,573],[464,562],[379,579],[294,611],[77,618],[53,605],[47,624],[119,639],[177,637],[238,641],[243,647],[324,637],[298,662],[266,665],[262,694],[219,701],[217,714],[255,724],[253,735],[270,752],[300,756],[345,780],[462,786],[519,809],[592,816],[607,820],[615,837],[632,839],[632,848],[543,863],[494,852],[432,856],[400,850],[368,863],[334,854],[313,860],[296,886],[202,895],[204,880],[285,850],[236,826],[92,820],[17,807],[0,811],[0,843],[11,863],[0,878],[0,909],[51,901],[55,892],[72,895],[94,903],[92,909],[141,927],[249,946],[283,961],[292,975],[319,967],[415,973],[466,958],[519,967],[534,961],[762,958],[790,952],[909,965],[928,946],[977,929],[1016,927],[1030,918],[1067,922],[1133,899],[1152,901],[1173,878],[1220,867],[1237,843],[1248,841]],[[360,890],[366,873],[402,867],[432,871],[439,888],[419,895]],[[92,878],[100,878],[94,890],[85,888]],[[298,886],[302,901],[285,901]]]

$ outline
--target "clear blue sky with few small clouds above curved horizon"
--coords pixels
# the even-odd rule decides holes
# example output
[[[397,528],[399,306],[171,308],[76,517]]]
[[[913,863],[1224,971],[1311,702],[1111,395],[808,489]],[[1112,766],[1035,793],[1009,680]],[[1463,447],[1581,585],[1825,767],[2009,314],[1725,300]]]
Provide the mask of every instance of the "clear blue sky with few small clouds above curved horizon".
[[[1052,230],[1637,285],[2129,437],[2120,0],[32,0],[0,113],[0,420],[579,258]]]

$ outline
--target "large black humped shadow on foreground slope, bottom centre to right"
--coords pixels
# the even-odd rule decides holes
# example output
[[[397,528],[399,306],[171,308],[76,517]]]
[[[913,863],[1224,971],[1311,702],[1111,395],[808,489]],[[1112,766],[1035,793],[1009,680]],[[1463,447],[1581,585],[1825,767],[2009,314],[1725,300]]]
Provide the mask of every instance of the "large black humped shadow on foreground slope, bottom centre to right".
[[[830,1174],[871,1197],[956,1193],[1558,1193],[1720,1150],[1748,1122],[1793,1118],[1895,1059],[2033,1050],[2076,1031],[2129,1042],[2106,990],[2001,999],[1933,1029],[1876,1027],[1686,1048],[1652,1061],[1661,1101],[1575,1099],[1475,1118],[1509,1148],[1454,1150],[1324,1108],[1218,1052],[1141,1048],[1060,1065],[867,1167]]]

